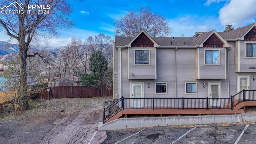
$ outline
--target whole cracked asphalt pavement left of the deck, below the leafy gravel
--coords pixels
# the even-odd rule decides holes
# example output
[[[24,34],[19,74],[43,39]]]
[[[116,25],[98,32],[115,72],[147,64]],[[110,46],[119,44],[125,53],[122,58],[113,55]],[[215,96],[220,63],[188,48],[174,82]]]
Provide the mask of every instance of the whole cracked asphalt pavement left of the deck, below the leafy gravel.
[[[66,116],[36,114],[0,122],[0,144],[99,144],[107,138],[106,131],[97,131],[102,113],[97,104]]]

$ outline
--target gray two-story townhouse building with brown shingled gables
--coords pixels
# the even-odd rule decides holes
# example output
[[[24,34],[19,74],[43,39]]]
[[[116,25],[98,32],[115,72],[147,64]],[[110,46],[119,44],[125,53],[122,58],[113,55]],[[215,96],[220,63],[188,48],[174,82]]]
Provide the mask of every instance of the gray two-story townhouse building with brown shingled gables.
[[[256,100],[249,91],[256,90],[256,23],[193,37],[150,37],[141,30],[115,36],[113,55],[113,97],[125,98],[126,108],[208,110],[237,105],[231,95]]]

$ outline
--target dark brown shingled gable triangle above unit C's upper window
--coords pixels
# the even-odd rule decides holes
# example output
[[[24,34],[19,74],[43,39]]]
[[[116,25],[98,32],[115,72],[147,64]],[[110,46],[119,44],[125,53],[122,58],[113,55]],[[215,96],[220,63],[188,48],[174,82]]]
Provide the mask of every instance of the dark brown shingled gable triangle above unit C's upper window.
[[[221,40],[215,35],[212,34],[203,44],[203,47],[223,47]]]

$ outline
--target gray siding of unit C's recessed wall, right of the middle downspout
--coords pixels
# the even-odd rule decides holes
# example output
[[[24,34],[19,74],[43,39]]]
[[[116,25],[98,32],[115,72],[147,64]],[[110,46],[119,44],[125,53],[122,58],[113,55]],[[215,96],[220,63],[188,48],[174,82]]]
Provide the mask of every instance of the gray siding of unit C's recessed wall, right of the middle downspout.
[[[222,97],[228,97],[228,82],[226,79],[195,79],[195,48],[178,48],[176,50],[176,77],[177,77],[177,98],[206,98],[208,97],[208,81],[221,82]],[[184,59],[186,58],[186,59]],[[201,67],[200,67],[201,68]],[[197,94],[185,94],[185,81],[198,82]],[[206,83],[205,88],[204,83]]]

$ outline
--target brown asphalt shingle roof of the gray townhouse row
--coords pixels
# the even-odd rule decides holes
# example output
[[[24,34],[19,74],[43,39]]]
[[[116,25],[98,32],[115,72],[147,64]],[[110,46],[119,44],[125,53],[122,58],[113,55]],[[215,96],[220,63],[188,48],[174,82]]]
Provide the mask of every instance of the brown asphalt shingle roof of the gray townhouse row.
[[[237,28],[235,30],[232,30],[231,32],[217,32],[221,37],[224,39],[236,39],[242,37],[247,30],[253,25],[254,23]],[[152,37],[157,44],[160,46],[184,46],[184,42],[186,46],[196,46],[203,42],[203,40],[209,36],[209,34],[212,32],[199,32],[203,35],[200,35],[198,37]],[[115,42],[116,46],[124,46],[127,45],[133,37],[124,37],[124,36],[116,36]],[[172,45],[171,45],[172,44]]]

